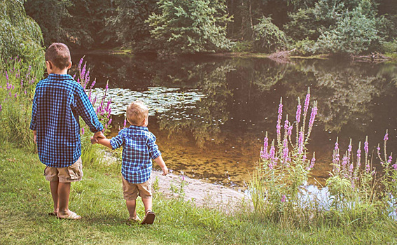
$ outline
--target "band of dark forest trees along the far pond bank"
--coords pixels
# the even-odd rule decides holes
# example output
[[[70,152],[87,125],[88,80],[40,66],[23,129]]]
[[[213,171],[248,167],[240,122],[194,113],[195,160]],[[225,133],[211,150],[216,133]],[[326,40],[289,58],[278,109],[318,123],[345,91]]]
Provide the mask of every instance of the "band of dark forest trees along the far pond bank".
[[[397,50],[394,0],[25,0],[44,43],[134,52]],[[48,14],[50,13],[50,14]]]

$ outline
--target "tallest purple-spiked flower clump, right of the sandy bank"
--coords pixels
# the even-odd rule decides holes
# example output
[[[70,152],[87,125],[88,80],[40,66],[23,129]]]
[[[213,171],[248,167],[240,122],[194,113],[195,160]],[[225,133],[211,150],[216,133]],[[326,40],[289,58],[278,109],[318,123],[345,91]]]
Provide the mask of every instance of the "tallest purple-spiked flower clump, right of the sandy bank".
[[[316,118],[317,103],[312,103],[310,114],[309,106],[308,90],[303,110],[298,98],[295,122],[289,122],[288,116],[283,122],[281,98],[276,125],[277,141],[270,141],[266,132],[261,159],[249,185],[255,211],[266,218],[275,221],[301,220],[306,215],[303,211],[313,207],[313,200],[302,200],[301,195],[316,160],[314,153],[310,157],[306,145]],[[281,130],[282,127],[284,130]],[[308,216],[306,218],[309,219]]]

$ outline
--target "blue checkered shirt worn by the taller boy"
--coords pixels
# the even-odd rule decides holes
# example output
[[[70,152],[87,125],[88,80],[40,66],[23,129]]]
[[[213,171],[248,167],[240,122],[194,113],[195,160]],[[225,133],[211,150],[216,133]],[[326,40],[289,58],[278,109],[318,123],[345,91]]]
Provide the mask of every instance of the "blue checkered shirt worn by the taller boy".
[[[30,129],[36,130],[40,161],[68,167],[81,156],[79,116],[91,132],[103,130],[83,87],[70,75],[53,74],[36,85]]]

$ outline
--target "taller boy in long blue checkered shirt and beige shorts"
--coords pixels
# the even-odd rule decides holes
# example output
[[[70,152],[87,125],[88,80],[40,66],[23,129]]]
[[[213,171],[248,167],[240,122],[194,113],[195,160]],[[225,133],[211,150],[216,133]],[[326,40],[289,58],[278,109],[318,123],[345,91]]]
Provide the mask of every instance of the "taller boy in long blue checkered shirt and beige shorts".
[[[53,43],[46,50],[48,77],[36,85],[32,105],[34,142],[40,161],[46,165],[44,176],[50,181],[54,212],[58,218],[77,220],[69,210],[71,182],[81,181],[81,138],[79,116],[94,132],[94,138],[104,137],[92,104],[83,87],[67,74],[71,68],[67,45]]]

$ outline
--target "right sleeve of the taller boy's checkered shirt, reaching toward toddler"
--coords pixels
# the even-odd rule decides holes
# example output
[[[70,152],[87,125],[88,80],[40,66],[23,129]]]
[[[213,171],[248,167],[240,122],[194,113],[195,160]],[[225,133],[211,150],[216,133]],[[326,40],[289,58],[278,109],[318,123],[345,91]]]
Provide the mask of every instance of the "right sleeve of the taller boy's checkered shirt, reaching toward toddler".
[[[75,99],[77,106],[76,111],[78,115],[83,118],[88,127],[90,127],[90,131],[93,133],[102,131],[104,126],[102,123],[99,123],[97,114],[95,113],[94,108],[92,108],[90,99],[88,99],[87,94],[85,94],[83,87],[78,86]]]

